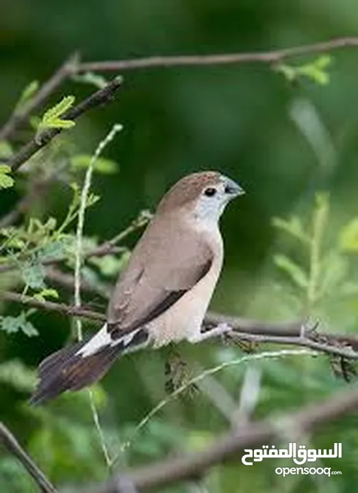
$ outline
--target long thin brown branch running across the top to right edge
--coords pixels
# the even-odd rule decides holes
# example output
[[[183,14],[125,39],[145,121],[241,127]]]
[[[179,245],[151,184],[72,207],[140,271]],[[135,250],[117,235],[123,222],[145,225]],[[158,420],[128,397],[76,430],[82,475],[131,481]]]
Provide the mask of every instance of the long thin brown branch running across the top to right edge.
[[[287,58],[293,58],[310,53],[324,53],[346,47],[357,47],[358,37],[335,38],[329,41],[303,45],[300,47],[259,51],[253,53],[223,53],[219,55],[179,55],[154,56],[134,58],[133,60],[110,60],[107,62],[84,62],[79,64],[78,73],[83,72],[112,72],[136,70],[138,68],[170,67],[170,66],[201,66],[228,65],[251,62],[278,64]]]

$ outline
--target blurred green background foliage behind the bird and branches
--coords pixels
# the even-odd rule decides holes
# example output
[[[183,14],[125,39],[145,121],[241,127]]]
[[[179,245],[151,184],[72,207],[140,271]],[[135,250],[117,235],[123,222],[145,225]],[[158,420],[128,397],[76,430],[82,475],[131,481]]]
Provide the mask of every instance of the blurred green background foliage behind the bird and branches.
[[[358,36],[354,0],[3,0],[0,122],[5,123],[30,81],[46,80],[73,51],[79,51],[84,61],[116,60],[266,51],[354,35]],[[287,63],[312,62],[316,57]],[[266,320],[301,316],[304,294],[294,290],[294,303],[285,299],[291,289],[289,279],[272,262],[277,251],[299,258],[301,247],[272,227],[272,217],[297,214],[307,222],[315,193],[329,191],[329,250],[348,220],[357,216],[357,60],[357,49],[332,53],[327,85],[308,77],[292,84],[265,64],[123,73],[116,100],[82,117],[71,134],[77,151],[93,153],[114,123],[124,126],[104,153],[118,162],[118,173],[94,177],[92,190],[101,200],[86,214],[86,234],[101,240],[112,238],[140,210],[153,210],[168,186],[182,175],[220,170],[239,181],[246,195],[222,219],[225,268],[212,308]],[[80,99],[92,90],[85,84],[66,82],[49,105],[63,95],[75,94]],[[1,213],[8,212],[22,193],[21,186],[1,192]],[[39,205],[42,217],[63,216],[68,200],[62,188],[53,187]],[[127,245],[133,246],[137,238],[138,234],[131,236]],[[306,262],[305,255],[301,260]],[[353,266],[354,261],[349,259]],[[276,289],[277,283],[281,290]],[[357,296],[336,301],[330,292],[310,314],[322,317],[333,331],[354,331]],[[17,314],[18,307],[3,305],[3,313]],[[24,380],[30,372],[26,368],[34,369],[42,357],[59,349],[70,331],[69,321],[57,314],[38,312],[32,320],[40,331],[38,338],[1,334],[0,377],[6,373],[1,372],[1,365],[14,359],[26,367],[17,364],[14,373],[10,367],[12,376],[18,372],[20,382],[6,375],[0,378],[0,418],[22,437],[58,485],[104,479],[105,465],[86,392],[65,396],[43,409],[29,409],[26,404],[29,384]],[[200,348],[182,344],[179,350],[194,368],[240,357],[240,349],[214,344]],[[166,356],[166,349],[131,355],[118,362],[103,387],[97,388],[101,421],[114,451],[131,428],[164,399]],[[262,386],[257,417],[309,403],[346,385],[331,375],[323,357],[268,359],[259,368]],[[233,399],[238,399],[244,371],[244,366],[233,366],[217,376]],[[227,427],[225,417],[205,394],[186,396],[151,420],[120,464],[134,466],[172,451],[205,446]],[[344,459],[327,465],[342,470],[342,476],[282,478],[274,474],[271,464],[247,468],[238,459],[236,464],[214,469],[200,488],[209,492],[298,492],[303,488],[307,492],[355,492],[357,419],[321,430],[315,443],[330,447],[334,441],[344,443]],[[3,454],[0,460],[2,491],[33,491],[14,459]],[[185,484],[168,491],[194,488],[199,487]]]

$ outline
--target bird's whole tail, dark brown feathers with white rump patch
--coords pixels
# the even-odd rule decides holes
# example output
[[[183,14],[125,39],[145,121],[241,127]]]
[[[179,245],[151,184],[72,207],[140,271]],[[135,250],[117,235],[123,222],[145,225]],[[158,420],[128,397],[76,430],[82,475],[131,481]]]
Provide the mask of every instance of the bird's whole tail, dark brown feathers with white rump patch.
[[[38,368],[40,381],[29,403],[42,404],[65,390],[79,390],[94,383],[121,354],[138,349],[147,339],[145,329],[136,329],[112,341],[107,325],[104,325],[90,340],[65,347],[41,362]]]

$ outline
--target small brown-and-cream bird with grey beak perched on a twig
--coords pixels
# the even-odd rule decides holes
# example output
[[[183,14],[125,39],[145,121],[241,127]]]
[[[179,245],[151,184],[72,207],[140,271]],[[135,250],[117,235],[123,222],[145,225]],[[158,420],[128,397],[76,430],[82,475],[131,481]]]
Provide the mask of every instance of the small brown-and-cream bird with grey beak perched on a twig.
[[[80,390],[105,375],[114,361],[143,347],[193,344],[225,327],[201,331],[223,262],[219,219],[244,190],[218,171],[179,179],[164,195],[133,249],[94,336],[46,357],[30,403]]]

